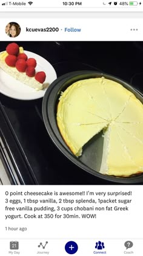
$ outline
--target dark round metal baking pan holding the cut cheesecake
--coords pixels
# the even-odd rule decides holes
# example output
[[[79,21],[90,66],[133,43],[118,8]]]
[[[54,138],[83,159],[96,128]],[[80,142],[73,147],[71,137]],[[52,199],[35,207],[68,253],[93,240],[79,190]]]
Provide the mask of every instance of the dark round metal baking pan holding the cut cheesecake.
[[[130,177],[116,177],[108,176],[99,173],[101,159],[102,159],[102,147],[103,147],[103,138],[102,133],[95,135],[87,144],[85,144],[81,157],[76,157],[72,154],[68,146],[65,144],[64,140],[61,137],[57,123],[56,123],[56,112],[59,102],[59,97],[62,91],[65,91],[67,87],[78,80],[90,79],[95,77],[104,76],[107,79],[114,80],[119,84],[123,85],[125,88],[130,90],[135,94],[136,98],[143,103],[143,97],[135,88],[127,84],[124,80],[119,79],[118,77],[111,76],[109,74],[98,73],[96,71],[75,71],[71,73],[64,74],[61,77],[58,77],[51,85],[47,88],[45,92],[44,99],[42,102],[42,115],[44,118],[45,127],[48,134],[52,138],[55,145],[58,149],[75,165],[79,168],[84,169],[90,174],[97,176],[101,179],[108,180],[110,182],[116,183],[142,183],[143,174]],[[56,159],[55,159],[56,160]],[[68,170],[67,170],[68,171]],[[75,177],[76,179],[76,177]]]

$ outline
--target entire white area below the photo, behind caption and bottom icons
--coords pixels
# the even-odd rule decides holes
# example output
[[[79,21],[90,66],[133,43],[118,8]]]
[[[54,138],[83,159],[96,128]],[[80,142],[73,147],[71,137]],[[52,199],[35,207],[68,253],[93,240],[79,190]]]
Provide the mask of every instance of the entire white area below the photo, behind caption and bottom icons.
[[[31,199],[45,199],[53,198],[58,201],[59,198],[62,199],[131,199],[130,204],[102,204],[102,207],[108,206],[118,206],[118,207],[128,207],[128,211],[104,211],[96,212],[96,219],[13,219],[5,220],[5,215],[18,215],[19,212],[5,211],[5,205],[16,207],[15,204],[5,203],[5,199],[21,199],[23,202],[20,206],[24,206],[23,199],[26,196],[5,196],[5,191],[10,193],[22,191],[57,191],[61,192],[72,192],[72,191],[85,191],[85,196],[28,196]],[[120,191],[131,191],[131,196],[86,196],[86,191],[96,192],[120,192]],[[133,251],[134,255],[141,255],[140,246],[143,241],[142,237],[142,195],[143,187],[140,185],[119,185],[119,186],[3,186],[1,187],[1,213],[0,213],[0,225],[1,225],[1,235],[3,251],[2,255],[8,254],[8,244],[10,241],[19,241],[21,244],[21,255],[29,248],[30,255],[36,255],[37,245],[40,241],[43,243],[48,241],[48,251],[51,255],[67,255],[64,251],[64,245],[67,241],[76,241],[81,247],[76,255],[93,255],[95,250],[95,242],[102,240],[105,243],[105,251],[108,255],[124,255],[125,252]],[[28,198],[27,197],[27,198]],[[35,204],[28,204],[30,206],[35,206]],[[42,206],[43,204],[41,204]],[[49,207],[53,204],[47,204]],[[71,207],[70,203],[67,204],[57,204],[60,207]],[[79,206],[87,206],[88,204],[79,204]],[[93,204],[91,204],[93,205]],[[18,205],[17,205],[18,206]],[[38,203],[38,205],[40,204]],[[45,206],[45,204],[44,204]],[[75,202],[72,207],[75,206]],[[98,206],[98,205],[96,205]],[[31,214],[33,212],[21,212],[21,214]],[[37,212],[36,212],[37,213]],[[55,212],[58,214],[67,213],[65,211]],[[55,214],[54,213],[54,214]],[[73,214],[68,212],[69,214]],[[82,212],[83,213],[83,212]],[[85,213],[95,213],[95,212],[84,212]],[[38,214],[43,214],[39,212]],[[6,231],[5,227],[27,227],[27,231]],[[124,247],[125,241],[133,241],[134,246],[128,251]],[[140,244],[140,245],[139,245]],[[57,245],[57,246],[56,246]],[[57,247],[59,251],[57,251]],[[60,252],[59,254],[57,254]]]

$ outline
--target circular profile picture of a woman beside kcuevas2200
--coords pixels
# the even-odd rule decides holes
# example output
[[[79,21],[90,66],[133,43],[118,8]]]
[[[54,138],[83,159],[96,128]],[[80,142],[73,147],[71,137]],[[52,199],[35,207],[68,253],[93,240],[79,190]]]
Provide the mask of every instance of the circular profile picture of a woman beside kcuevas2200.
[[[21,27],[16,22],[10,22],[5,27],[5,33],[8,35],[8,37],[18,37],[18,35],[21,33]]]

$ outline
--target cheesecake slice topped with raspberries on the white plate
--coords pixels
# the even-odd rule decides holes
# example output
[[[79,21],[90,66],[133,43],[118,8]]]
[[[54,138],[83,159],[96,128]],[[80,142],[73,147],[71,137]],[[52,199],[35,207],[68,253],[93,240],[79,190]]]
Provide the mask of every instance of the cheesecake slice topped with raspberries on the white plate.
[[[24,53],[24,49],[22,47],[19,47],[19,53]],[[19,80],[19,82],[22,82],[29,87],[35,88],[35,90],[39,91],[43,89],[43,83],[38,82],[38,80],[35,79],[35,76],[27,76],[25,72],[19,72],[15,66],[8,66],[7,63],[5,63],[7,56],[7,51],[0,53],[0,68],[3,69],[5,73],[14,77],[16,80]]]

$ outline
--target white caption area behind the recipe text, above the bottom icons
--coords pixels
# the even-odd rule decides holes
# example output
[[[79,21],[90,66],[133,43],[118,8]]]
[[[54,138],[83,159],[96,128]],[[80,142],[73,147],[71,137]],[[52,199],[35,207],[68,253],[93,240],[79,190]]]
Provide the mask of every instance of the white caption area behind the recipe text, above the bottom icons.
[[[5,212],[5,205],[7,206],[16,206],[15,204],[6,204],[5,199],[24,199],[25,196],[6,196],[5,191],[93,191],[95,192],[101,192],[101,191],[132,191],[132,196],[41,196],[39,198],[46,199],[52,197],[53,199],[59,199],[59,198],[67,198],[67,199],[131,199],[131,204],[102,204],[102,205],[96,205],[96,206],[119,206],[119,207],[125,207],[128,206],[128,211],[104,211],[104,212],[96,212],[96,219],[7,219],[5,221],[5,214],[7,214],[7,211]],[[28,227],[28,232],[19,232],[16,233],[18,237],[25,237],[25,238],[38,238],[39,233],[42,232],[42,237],[48,238],[94,238],[95,237],[95,229],[96,233],[98,232],[98,236],[104,236],[106,238],[142,238],[142,229],[139,229],[139,226],[141,227],[141,219],[142,219],[142,197],[139,195],[142,194],[143,187],[140,185],[119,185],[119,186],[4,186],[1,187],[1,213],[0,213],[0,219],[1,219],[1,238],[7,238],[12,236],[12,232],[6,232],[5,225],[6,226],[25,226]],[[38,196],[28,196],[32,199],[39,199]],[[28,198],[27,197],[27,198]],[[24,202],[22,201],[22,206]],[[19,205],[19,206],[21,206]],[[29,204],[30,205],[30,204]],[[34,204],[33,204],[34,205]],[[41,204],[38,204],[38,207]],[[59,206],[63,207],[71,207],[71,204],[57,204]],[[80,206],[87,206],[87,204],[80,204]],[[93,204],[91,204],[93,205]],[[17,205],[18,206],[18,205]],[[37,205],[36,205],[37,206]],[[45,206],[45,205],[44,205]],[[53,206],[52,204],[48,204],[48,206]],[[75,206],[73,204],[72,206]],[[19,213],[13,213],[8,212],[9,214],[19,214]],[[28,212],[29,213],[29,212]],[[40,214],[40,212],[38,211]],[[60,211],[57,212],[58,214],[61,213]],[[66,211],[62,212],[66,213]],[[67,212],[70,214],[73,214],[71,212]],[[78,213],[78,212],[76,212]],[[83,212],[82,212],[83,213]],[[89,213],[89,212],[88,212]],[[95,213],[95,212],[90,212]],[[46,223],[46,224],[45,224]],[[83,227],[84,224],[84,227]],[[35,233],[35,225],[36,230],[38,232]],[[44,226],[48,226],[48,229],[44,229]],[[56,232],[55,228],[56,227]],[[34,229],[33,229],[34,228]],[[76,229],[76,232],[75,232]],[[124,232],[123,232],[124,229]],[[118,232],[117,232],[118,230]],[[65,235],[66,234],[66,235]]]

